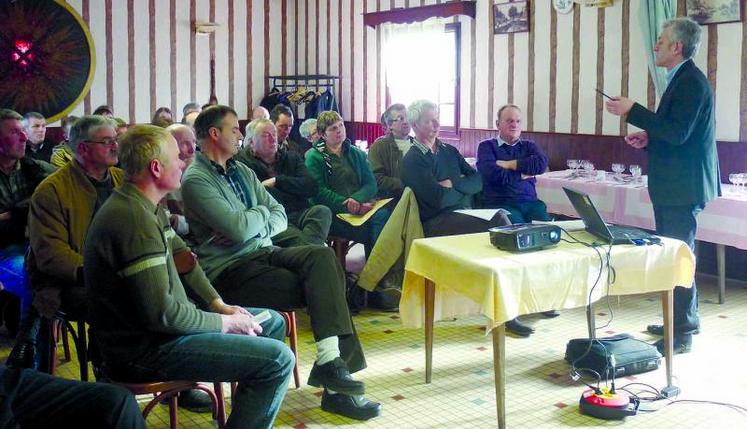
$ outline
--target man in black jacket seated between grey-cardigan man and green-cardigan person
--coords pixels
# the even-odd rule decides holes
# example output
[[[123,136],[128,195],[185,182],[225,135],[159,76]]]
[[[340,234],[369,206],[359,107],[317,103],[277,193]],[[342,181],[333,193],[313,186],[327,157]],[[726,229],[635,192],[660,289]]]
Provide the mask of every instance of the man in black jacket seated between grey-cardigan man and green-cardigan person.
[[[277,130],[266,119],[252,121],[252,144],[236,155],[257,175],[267,192],[283,205],[288,228],[272,237],[280,247],[324,244],[332,223],[332,212],[326,206],[309,204],[318,185],[304,165],[303,156],[278,147]]]

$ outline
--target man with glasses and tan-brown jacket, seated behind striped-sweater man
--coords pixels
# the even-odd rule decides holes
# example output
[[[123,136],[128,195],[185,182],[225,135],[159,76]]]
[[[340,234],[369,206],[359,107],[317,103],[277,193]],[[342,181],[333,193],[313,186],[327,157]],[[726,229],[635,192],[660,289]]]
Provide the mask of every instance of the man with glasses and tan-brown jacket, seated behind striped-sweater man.
[[[84,317],[83,244],[96,210],[124,181],[115,167],[116,124],[85,116],[71,129],[73,160],[44,180],[31,198],[27,266],[34,306],[51,318],[63,301],[70,317]]]

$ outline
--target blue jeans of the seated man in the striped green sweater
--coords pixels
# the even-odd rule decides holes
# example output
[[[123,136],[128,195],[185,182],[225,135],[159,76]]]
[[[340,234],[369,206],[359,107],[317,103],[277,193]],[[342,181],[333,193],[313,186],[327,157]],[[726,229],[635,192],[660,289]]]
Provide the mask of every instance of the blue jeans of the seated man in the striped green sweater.
[[[248,308],[252,314],[263,311]],[[238,381],[226,428],[269,428],[277,416],[295,364],[283,343],[285,321],[275,311],[262,336],[207,333],[161,343],[133,362],[112,365],[118,381]]]

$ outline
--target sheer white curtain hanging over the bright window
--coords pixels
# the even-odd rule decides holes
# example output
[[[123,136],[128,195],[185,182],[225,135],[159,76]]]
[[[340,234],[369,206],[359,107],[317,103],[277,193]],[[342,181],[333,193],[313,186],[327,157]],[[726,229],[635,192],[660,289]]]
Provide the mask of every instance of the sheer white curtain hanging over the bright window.
[[[443,70],[433,67],[443,55],[444,20],[382,25],[384,82],[392,103],[405,106],[418,99],[438,102]]]

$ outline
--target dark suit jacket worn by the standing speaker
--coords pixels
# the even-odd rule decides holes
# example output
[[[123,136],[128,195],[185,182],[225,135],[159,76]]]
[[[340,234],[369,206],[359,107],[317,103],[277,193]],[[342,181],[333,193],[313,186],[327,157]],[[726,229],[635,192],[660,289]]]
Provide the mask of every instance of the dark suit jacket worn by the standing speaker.
[[[627,121],[648,133],[653,204],[704,204],[721,194],[713,91],[692,59],[677,70],[656,113],[636,103]]]

